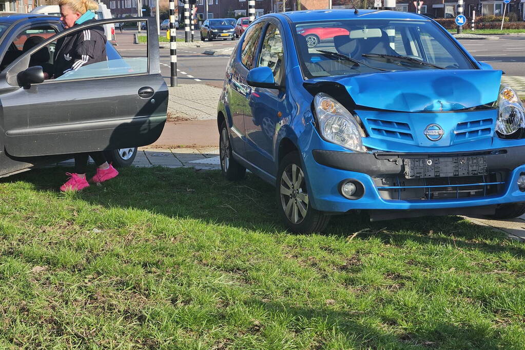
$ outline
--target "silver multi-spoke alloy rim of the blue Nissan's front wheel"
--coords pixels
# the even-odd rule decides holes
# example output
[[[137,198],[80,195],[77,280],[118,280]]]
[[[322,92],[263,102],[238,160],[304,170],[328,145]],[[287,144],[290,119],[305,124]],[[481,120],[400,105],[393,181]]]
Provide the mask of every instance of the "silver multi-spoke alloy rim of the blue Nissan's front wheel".
[[[280,181],[282,209],[293,224],[304,220],[308,212],[308,193],[304,182],[304,173],[295,163],[288,165],[282,172]]]

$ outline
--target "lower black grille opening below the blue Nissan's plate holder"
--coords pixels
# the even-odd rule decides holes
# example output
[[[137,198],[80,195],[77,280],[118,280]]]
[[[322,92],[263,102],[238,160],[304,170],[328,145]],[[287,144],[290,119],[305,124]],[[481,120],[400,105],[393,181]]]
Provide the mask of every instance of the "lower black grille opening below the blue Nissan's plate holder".
[[[503,190],[507,173],[493,172],[478,176],[405,179],[374,178],[385,200],[436,200],[483,197]]]

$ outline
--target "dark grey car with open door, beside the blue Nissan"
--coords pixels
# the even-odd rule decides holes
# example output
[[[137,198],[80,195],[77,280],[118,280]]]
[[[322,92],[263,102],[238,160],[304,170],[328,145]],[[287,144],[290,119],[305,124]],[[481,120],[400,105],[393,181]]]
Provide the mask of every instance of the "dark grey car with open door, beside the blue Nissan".
[[[148,25],[148,57],[122,58],[107,45],[108,61],[44,80],[44,71],[53,72],[58,39],[133,20]],[[156,24],[133,20],[91,21],[64,30],[58,17],[0,15],[0,177],[97,150],[106,150],[116,166],[129,165],[138,146],[160,136],[167,87],[159,69]],[[33,42],[38,43],[27,45]]]

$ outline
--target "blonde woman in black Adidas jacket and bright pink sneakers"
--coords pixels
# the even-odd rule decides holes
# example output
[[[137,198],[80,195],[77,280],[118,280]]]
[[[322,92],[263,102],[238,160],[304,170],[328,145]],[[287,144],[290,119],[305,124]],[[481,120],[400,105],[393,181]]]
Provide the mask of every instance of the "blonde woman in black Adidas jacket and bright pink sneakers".
[[[95,19],[98,4],[93,0],[59,0],[60,20],[66,29]],[[106,61],[106,35],[102,26],[75,31],[57,41],[54,61],[54,78],[76,71],[91,63]],[[70,178],[60,191],[80,191],[89,186],[86,180],[88,157],[97,164],[97,173],[91,182],[104,182],[116,177],[119,172],[113,168],[101,151],[75,155],[75,172],[67,173]]]

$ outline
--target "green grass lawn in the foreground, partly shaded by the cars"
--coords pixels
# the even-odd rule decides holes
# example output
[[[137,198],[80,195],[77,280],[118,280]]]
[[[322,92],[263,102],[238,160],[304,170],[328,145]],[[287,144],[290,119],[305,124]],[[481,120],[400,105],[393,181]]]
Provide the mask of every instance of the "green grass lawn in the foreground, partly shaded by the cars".
[[[0,348],[524,347],[525,250],[485,227],[292,235],[253,175],[130,168],[64,195],[67,170],[0,179]]]

